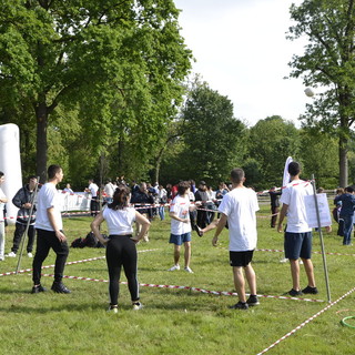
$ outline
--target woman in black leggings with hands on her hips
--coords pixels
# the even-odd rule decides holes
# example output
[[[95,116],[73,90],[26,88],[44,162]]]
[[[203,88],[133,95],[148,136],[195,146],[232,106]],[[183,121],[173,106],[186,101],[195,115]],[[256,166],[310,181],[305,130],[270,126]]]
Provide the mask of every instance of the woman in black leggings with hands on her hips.
[[[128,280],[129,290],[134,311],[142,308],[139,295],[139,283],[136,280],[136,247],[135,244],[146,234],[150,222],[149,220],[129,207],[130,189],[119,186],[113,193],[113,201],[99,213],[91,223],[91,230],[95,237],[106,245],[106,263],[110,276],[110,307],[109,311],[118,313],[118,300],[120,292],[121,267],[124,268],[124,274]],[[105,240],[100,234],[100,225],[106,221],[109,229],[109,240]],[[132,223],[136,221],[142,226],[138,236],[132,237]]]

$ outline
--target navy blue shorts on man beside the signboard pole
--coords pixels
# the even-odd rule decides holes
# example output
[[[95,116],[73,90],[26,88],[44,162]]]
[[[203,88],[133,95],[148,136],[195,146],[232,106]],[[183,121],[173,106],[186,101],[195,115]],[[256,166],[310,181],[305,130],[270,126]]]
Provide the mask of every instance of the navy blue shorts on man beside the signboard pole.
[[[312,254],[312,232],[291,233],[285,232],[285,257],[297,260],[311,258]]]

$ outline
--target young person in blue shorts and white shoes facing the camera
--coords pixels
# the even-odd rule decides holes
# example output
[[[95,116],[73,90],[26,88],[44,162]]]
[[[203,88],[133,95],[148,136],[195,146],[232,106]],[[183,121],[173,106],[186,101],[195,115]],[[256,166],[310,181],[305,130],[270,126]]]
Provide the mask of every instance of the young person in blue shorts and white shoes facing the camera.
[[[199,203],[191,205],[190,197],[190,182],[181,181],[178,184],[178,195],[174,197],[170,206],[171,217],[171,234],[169,243],[174,244],[174,265],[169,271],[180,270],[180,250],[181,245],[184,244],[185,253],[185,267],[187,273],[193,273],[190,268],[191,262],[191,223],[190,223],[190,211],[196,209]]]

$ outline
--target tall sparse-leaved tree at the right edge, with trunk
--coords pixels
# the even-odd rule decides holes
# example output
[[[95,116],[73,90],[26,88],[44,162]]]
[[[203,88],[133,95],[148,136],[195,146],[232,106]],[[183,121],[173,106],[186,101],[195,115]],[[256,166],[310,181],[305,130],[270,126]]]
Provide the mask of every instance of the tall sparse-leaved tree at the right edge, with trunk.
[[[338,138],[339,185],[347,185],[347,152],[355,120],[355,2],[354,0],[305,0],[291,7],[296,24],[290,39],[306,36],[303,55],[294,55],[292,77],[322,87],[307,105],[305,124]]]

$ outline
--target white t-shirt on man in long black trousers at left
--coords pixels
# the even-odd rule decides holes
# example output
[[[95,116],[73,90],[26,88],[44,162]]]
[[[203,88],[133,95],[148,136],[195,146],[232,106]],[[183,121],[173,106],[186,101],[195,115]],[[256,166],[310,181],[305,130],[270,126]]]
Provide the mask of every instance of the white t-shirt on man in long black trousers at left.
[[[63,229],[62,215],[61,215],[61,202],[60,194],[55,189],[55,185],[48,182],[38,193],[37,215],[34,226],[44,231],[54,231],[49,217],[48,209],[54,209],[54,220],[59,230]]]

